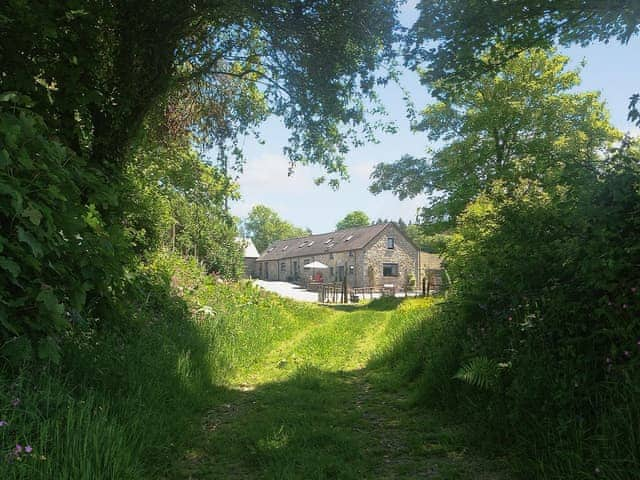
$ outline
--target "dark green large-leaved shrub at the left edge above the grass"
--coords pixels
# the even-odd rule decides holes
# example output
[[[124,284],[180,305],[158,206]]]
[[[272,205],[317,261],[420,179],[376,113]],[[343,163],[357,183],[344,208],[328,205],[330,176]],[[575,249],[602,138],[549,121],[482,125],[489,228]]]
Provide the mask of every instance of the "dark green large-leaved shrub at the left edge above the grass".
[[[93,308],[112,297],[129,259],[125,232],[88,196],[108,194],[99,176],[16,103],[28,99],[1,100],[0,356],[58,360],[60,335],[86,316],[88,295]]]

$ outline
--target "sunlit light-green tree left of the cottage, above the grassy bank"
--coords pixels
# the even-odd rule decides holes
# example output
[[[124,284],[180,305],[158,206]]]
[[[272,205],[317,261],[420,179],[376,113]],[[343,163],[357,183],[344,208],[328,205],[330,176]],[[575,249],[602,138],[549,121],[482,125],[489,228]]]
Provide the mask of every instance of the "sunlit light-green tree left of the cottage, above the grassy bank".
[[[140,232],[139,243],[158,237],[155,243],[165,250],[195,258],[226,278],[238,277],[237,228],[224,206],[224,199],[237,198],[237,185],[224,171],[203,162],[188,144],[151,142],[138,148],[127,178],[138,208],[128,208],[126,218]]]

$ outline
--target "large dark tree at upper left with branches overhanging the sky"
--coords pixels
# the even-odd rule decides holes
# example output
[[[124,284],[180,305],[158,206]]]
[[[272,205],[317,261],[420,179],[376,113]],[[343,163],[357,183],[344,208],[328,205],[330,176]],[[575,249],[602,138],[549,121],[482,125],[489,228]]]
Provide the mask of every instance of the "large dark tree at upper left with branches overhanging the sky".
[[[340,173],[358,126],[369,132],[362,99],[384,81],[373,72],[393,57],[398,30],[391,0],[76,7],[1,4],[0,90],[30,96],[62,142],[108,175],[166,94],[194,79],[224,91],[222,77],[260,85],[269,112],[292,131],[292,162]]]

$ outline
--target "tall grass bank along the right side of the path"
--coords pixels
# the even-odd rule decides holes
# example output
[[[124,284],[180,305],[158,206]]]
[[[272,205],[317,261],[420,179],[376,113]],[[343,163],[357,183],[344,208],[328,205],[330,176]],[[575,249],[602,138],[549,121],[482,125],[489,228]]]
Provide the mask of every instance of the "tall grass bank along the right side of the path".
[[[391,370],[411,388],[413,400],[436,408],[464,428],[463,443],[504,459],[515,478],[543,480],[637,480],[640,478],[640,377],[627,374],[600,385],[590,408],[536,412],[528,376],[543,375],[547,390],[563,372],[542,370],[541,352],[531,352],[497,385],[477,388],[455,378],[468,360],[459,307],[439,304],[417,322],[407,323],[372,365]],[[536,355],[539,357],[536,359]],[[540,369],[532,370],[536,365]],[[511,367],[514,368],[514,367]],[[576,386],[579,388],[579,385]],[[546,390],[545,390],[546,391]],[[576,395],[581,395],[577,392]],[[531,413],[527,413],[531,412]]]

